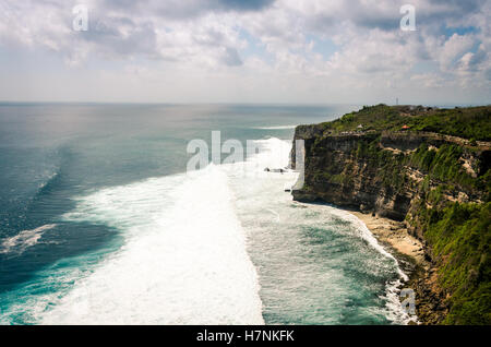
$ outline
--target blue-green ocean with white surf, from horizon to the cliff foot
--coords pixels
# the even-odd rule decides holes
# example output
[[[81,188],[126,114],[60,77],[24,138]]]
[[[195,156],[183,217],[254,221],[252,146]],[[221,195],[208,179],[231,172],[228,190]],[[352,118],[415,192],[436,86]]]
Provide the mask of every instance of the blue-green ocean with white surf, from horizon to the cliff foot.
[[[0,104],[0,324],[405,324],[366,226],[264,171],[357,109]],[[187,172],[212,131],[259,151]]]

